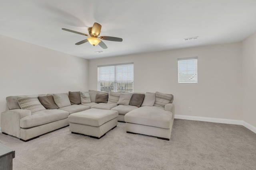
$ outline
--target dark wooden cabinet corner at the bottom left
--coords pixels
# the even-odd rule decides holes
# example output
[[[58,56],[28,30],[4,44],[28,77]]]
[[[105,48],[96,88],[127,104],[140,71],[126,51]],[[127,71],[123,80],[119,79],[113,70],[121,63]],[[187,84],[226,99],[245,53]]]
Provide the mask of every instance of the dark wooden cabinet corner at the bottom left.
[[[0,144],[0,170],[12,170],[15,151]]]

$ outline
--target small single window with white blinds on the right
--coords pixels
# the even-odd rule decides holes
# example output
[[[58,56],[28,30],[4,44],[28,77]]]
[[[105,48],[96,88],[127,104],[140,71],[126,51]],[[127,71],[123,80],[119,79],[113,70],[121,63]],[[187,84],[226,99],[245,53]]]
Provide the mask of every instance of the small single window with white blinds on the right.
[[[197,57],[178,59],[178,83],[197,83]]]

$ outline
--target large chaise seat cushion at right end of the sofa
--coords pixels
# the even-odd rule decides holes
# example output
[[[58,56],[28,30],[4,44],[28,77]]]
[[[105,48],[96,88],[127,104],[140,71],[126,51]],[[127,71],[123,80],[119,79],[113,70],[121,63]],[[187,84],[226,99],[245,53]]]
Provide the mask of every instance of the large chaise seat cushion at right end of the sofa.
[[[128,112],[124,120],[127,123],[170,129],[172,112],[165,111],[164,107],[142,106]]]

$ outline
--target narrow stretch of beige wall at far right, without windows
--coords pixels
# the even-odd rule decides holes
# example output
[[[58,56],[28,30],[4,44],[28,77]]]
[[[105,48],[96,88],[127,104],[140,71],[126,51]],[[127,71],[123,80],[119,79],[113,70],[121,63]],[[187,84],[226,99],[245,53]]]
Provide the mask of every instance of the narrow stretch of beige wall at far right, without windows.
[[[256,127],[256,33],[242,41],[243,120]]]

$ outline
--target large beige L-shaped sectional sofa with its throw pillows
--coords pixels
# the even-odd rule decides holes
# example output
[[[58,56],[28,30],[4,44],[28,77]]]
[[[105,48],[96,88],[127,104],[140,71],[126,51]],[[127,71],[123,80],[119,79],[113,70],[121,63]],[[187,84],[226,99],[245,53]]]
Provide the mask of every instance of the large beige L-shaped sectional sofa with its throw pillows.
[[[173,95],[156,93],[69,92],[34,96],[8,96],[1,130],[22,141],[69,125],[72,113],[95,109],[118,111],[127,133],[170,139],[174,120]]]

